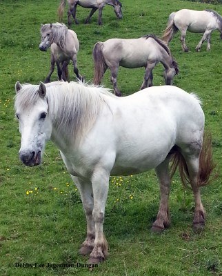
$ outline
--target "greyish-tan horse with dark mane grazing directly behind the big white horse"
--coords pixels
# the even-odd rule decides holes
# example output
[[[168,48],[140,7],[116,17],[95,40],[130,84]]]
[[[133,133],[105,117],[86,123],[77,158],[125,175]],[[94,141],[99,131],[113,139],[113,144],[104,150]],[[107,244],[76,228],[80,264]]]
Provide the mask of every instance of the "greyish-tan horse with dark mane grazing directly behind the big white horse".
[[[117,96],[121,96],[117,87],[119,66],[125,68],[145,67],[141,89],[152,86],[152,70],[159,62],[165,68],[163,75],[165,84],[172,85],[174,75],[179,72],[168,46],[151,34],[139,39],[108,39],[105,42],[97,42],[94,46],[93,58],[94,84],[100,84],[105,71],[110,68],[110,80]]]

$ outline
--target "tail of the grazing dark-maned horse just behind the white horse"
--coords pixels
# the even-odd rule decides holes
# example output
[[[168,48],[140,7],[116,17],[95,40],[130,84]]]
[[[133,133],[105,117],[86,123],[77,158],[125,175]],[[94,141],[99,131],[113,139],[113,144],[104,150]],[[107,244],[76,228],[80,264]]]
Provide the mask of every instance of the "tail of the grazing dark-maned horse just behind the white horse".
[[[105,64],[105,59],[103,57],[103,42],[97,42],[94,46],[92,56],[94,59],[94,78],[93,83],[99,85],[105,69],[107,68]]]

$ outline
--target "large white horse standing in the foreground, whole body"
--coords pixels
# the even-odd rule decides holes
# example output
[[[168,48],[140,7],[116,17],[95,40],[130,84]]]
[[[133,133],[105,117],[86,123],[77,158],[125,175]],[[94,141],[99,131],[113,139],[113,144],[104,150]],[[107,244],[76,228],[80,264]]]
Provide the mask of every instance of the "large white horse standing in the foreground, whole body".
[[[26,166],[41,164],[52,139],[79,189],[87,236],[81,255],[97,264],[108,254],[103,234],[110,175],[129,175],[155,168],[161,201],[152,230],[170,225],[170,159],[172,173],[179,165],[183,184],[191,185],[194,230],[205,224],[200,186],[208,184],[212,169],[210,135],[203,139],[204,114],[195,95],[175,86],[146,88],[128,97],[108,89],[74,81],[16,85],[19,119],[19,157]],[[138,135],[139,134],[139,135]]]

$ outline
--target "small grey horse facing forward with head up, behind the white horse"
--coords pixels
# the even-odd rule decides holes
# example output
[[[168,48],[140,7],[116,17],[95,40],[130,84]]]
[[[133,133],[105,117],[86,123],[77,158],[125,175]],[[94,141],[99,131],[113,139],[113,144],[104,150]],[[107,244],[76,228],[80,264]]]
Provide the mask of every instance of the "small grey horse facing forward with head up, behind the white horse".
[[[41,43],[39,50],[46,51],[51,46],[51,67],[45,83],[50,82],[50,77],[54,71],[54,63],[57,64],[59,80],[68,79],[68,64],[73,62],[74,73],[82,80],[77,68],[77,53],[79,51],[79,40],[77,34],[63,23],[48,23],[41,26]]]

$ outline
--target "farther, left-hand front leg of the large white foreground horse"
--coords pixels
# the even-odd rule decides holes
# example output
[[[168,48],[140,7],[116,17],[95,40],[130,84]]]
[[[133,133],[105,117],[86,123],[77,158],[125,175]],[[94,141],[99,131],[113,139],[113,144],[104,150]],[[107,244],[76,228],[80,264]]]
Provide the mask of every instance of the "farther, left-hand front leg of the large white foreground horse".
[[[83,181],[79,177],[73,177],[74,184],[77,186],[79,193],[81,195],[81,200],[83,203],[83,208],[85,210],[85,218],[87,223],[87,233],[86,238],[81,248],[79,249],[79,254],[88,255],[92,252],[94,247],[95,239],[95,224],[92,218],[93,210],[93,192],[92,192],[92,183],[90,181]]]

